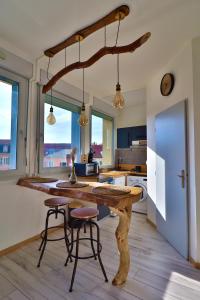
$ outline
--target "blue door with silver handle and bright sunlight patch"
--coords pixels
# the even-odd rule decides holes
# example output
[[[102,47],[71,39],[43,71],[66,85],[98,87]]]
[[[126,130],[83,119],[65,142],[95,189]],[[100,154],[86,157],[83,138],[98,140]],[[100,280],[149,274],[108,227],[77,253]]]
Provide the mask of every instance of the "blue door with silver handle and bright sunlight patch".
[[[188,258],[186,103],[156,116],[158,231]]]

